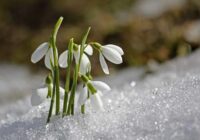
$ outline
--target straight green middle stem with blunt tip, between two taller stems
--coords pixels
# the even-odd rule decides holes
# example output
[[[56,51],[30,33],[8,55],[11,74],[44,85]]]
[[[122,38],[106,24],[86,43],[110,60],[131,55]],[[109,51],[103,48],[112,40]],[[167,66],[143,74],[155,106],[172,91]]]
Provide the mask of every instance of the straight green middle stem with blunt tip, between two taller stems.
[[[64,96],[64,102],[63,102],[63,114],[64,117],[67,113],[67,102],[68,102],[68,94],[70,91],[70,71],[71,71],[71,64],[72,64],[72,58],[73,58],[73,38],[70,40],[68,45],[69,51],[68,51],[68,67],[67,67],[67,74],[66,74],[66,84],[65,84],[65,96]]]

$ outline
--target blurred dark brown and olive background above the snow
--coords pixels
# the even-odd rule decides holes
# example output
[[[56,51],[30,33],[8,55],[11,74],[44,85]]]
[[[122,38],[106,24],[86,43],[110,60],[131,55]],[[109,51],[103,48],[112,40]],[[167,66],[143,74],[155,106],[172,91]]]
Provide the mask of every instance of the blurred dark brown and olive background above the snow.
[[[1,0],[0,63],[30,63],[31,53],[47,41],[57,19],[64,22],[58,34],[59,53],[74,37],[79,43],[88,26],[90,41],[113,43],[124,51],[128,66],[162,63],[184,56],[200,44],[199,0]],[[97,55],[95,55],[97,57]],[[99,63],[95,56],[93,64]],[[93,73],[102,74],[95,65]]]

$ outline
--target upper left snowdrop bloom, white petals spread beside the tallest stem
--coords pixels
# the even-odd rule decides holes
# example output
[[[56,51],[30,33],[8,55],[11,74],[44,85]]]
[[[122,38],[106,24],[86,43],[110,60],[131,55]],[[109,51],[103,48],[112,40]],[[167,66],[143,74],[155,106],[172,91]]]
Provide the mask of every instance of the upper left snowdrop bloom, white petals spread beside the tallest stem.
[[[54,63],[53,49],[48,42],[42,43],[32,54],[31,62],[37,63],[45,56],[44,62],[48,69],[51,69],[51,62]]]

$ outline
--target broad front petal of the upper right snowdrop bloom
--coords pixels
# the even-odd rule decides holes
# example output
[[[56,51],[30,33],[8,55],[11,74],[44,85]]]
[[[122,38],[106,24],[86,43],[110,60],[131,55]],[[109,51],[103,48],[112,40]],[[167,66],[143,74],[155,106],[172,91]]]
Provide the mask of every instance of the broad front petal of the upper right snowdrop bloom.
[[[106,57],[107,60],[114,64],[121,64],[122,63],[122,57],[119,52],[112,48],[108,47],[102,47],[102,53]]]

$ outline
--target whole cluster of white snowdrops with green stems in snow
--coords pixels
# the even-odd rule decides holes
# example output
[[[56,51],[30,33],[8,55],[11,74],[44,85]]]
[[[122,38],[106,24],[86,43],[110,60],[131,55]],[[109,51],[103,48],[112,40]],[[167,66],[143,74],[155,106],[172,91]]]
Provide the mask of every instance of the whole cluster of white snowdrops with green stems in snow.
[[[96,110],[103,110],[101,96],[103,92],[109,91],[110,87],[102,81],[94,81],[91,76],[91,63],[89,56],[93,55],[93,50],[99,52],[100,65],[105,74],[109,74],[106,60],[114,63],[122,63],[123,50],[113,44],[101,45],[98,42],[87,43],[87,32],[82,38],[81,44],[75,43],[70,39],[68,49],[61,55],[58,55],[56,46],[56,36],[63,21],[60,17],[57,21],[52,35],[48,42],[42,43],[32,54],[31,61],[36,63],[43,57],[45,66],[50,70],[45,80],[45,87],[37,89],[31,96],[33,106],[41,104],[45,99],[50,102],[47,123],[50,122],[52,114],[74,115],[75,111],[85,113],[85,104],[89,104]],[[60,86],[59,67],[66,69],[65,87]],[[73,71],[73,74],[71,73]],[[70,83],[72,79],[72,83]],[[76,95],[78,80],[81,80],[81,91]],[[77,99],[77,101],[75,100]],[[62,107],[61,103],[62,102]],[[61,113],[62,109],[62,113]]]

